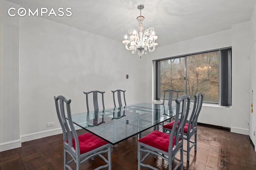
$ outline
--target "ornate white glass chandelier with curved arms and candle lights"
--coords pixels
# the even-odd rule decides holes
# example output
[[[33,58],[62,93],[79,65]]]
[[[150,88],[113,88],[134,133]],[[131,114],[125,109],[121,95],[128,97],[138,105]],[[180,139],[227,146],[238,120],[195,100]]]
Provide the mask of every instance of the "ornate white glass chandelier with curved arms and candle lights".
[[[154,33],[154,28],[146,29],[143,33],[143,20],[144,16],[141,16],[141,10],[144,8],[143,4],[138,5],[138,9],[140,10],[140,16],[137,17],[139,22],[139,33],[135,29],[129,29],[128,33],[130,36],[127,39],[127,35],[125,35],[125,40],[122,41],[124,43],[125,48],[127,50],[132,50],[132,54],[135,54],[138,51],[138,55],[141,57],[146,51],[153,52],[158,43],[155,43],[155,40],[158,38]],[[130,45],[128,47],[128,45]]]

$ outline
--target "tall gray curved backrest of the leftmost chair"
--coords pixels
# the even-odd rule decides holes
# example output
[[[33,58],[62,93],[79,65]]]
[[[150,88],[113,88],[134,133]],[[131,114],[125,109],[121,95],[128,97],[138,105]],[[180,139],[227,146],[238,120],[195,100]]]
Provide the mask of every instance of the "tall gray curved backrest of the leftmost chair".
[[[57,96],[57,97],[54,96],[54,100],[55,100],[58,119],[60,121],[60,125],[63,132],[64,147],[70,152],[70,154],[76,155],[76,157],[79,158],[80,156],[79,142],[78,142],[76,129],[74,128],[74,124],[71,117],[71,111],[70,111],[71,100],[67,100],[64,96]],[[65,107],[68,115],[68,122],[65,116]],[[68,123],[71,130],[68,127]],[[75,140],[76,149],[73,148],[74,146],[72,142],[72,135]]]

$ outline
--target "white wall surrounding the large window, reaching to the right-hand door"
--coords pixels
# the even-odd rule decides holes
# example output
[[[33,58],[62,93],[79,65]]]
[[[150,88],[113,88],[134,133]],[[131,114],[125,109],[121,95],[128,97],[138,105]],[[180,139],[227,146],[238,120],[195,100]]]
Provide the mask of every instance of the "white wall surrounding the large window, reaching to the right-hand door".
[[[232,132],[248,135],[249,30],[249,22],[245,22],[233,25],[232,29],[226,31],[158,47],[148,60],[147,76],[152,82],[152,60],[232,46],[232,107],[204,105],[198,122],[229,127]],[[152,94],[148,95],[150,97]]]

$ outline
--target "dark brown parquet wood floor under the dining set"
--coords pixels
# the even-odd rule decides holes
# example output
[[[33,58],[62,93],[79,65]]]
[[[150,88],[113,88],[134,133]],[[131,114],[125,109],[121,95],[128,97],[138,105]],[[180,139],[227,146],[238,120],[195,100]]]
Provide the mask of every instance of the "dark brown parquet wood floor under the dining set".
[[[144,132],[142,136],[150,133]],[[86,133],[78,130],[78,135]],[[137,138],[130,138],[112,147],[112,170],[137,169]],[[186,143],[184,143],[186,146]],[[186,160],[186,153],[184,153]],[[168,169],[162,158],[147,158],[160,170]],[[96,157],[81,164],[81,170],[92,170],[104,164]],[[72,163],[75,167],[75,164]],[[74,168],[75,169],[75,168]],[[144,168],[143,168],[144,169]],[[255,170],[256,152],[246,135],[206,125],[198,126],[197,152],[192,150],[185,170]],[[0,170],[63,170],[62,134],[22,143],[18,149],[0,152]]]

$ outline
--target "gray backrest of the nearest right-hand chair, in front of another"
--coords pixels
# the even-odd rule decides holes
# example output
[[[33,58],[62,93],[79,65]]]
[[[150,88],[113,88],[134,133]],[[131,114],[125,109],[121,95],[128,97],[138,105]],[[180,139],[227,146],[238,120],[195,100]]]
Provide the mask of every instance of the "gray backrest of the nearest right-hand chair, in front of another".
[[[173,137],[175,136],[174,145],[178,145],[179,139],[183,140],[183,131],[185,126],[185,121],[188,118],[189,108],[190,108],[190,96],[183,95],[180,99],[176,99],[176,114],[173,127],[170,132],[169,139],[169,150],[172,149]],[[182,111],[180,112],[180,107]],[[180,116],[179,116],[180,115]],[[179,124],[178,124],[179,121]]]

